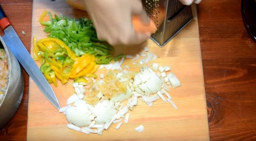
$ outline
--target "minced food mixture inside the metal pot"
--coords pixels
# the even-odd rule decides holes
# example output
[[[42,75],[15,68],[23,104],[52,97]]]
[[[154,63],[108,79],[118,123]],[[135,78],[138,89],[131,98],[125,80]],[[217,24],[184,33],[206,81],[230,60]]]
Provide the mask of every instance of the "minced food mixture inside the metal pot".
[[[8,60],[4,49],[0,49],[0,101],[8,80]]]

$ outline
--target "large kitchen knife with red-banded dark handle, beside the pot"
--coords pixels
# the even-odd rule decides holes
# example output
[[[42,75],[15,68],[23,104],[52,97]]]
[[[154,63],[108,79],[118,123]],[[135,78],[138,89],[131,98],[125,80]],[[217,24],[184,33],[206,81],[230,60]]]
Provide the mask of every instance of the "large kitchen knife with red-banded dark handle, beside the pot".
[[[4,11],[0,5],[0,27],[4,31],[3,41],[6,46],[12,51],[14,56],[17,58],[19,63],[26,70],[28,75],[33,79],[38,88],[45,95],[45,97],[57,108],[60,109],[59,101],[49,85],[48,81],[45,79],[44,75],[41,73],[38,66],[35,64],[34,60],[30,56],[28,50],[20,40],[19,36],[16,34],[15,30],[11,26],[11,22],[4,14]]]

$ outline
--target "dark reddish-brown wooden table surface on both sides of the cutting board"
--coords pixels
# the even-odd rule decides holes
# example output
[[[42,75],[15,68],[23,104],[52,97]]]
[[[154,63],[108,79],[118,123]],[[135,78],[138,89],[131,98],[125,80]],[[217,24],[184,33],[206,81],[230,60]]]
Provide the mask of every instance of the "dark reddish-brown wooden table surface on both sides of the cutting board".
[[[32,0],[0,0],[0,3],[29,50]],[[256,140],[256,43],[244,28],[240,3],[240,0],[203,0],[198,5],[210,139],[213,141]],[[1,141],[26,140],[28,75],[23,73],[22,103],[13,119],[0,130]]]

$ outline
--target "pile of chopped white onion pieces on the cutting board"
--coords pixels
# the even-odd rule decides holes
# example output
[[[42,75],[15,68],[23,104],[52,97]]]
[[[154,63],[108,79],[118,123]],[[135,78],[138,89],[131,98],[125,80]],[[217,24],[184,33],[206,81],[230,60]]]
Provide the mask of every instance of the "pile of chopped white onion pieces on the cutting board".
[[[159,66],[158,63],[152,63],[152,67],[150,67],[150,63],[156,60],[157,56],[148,51],[148,48],[144,47],[143,52],[140,55],[136,54],[136,57],[126,55],[126,58],[132,58],[132,64],[146,65],[141,66],[140,72],[134,74],[132,79],[126,78],[130,67],[124,65],[122,66],[125,68],[124,70],[121,67],[124,57],[120,62],[100,65],[99,69],[119,69],[120,72],[116,74],[116,78],[126,85],[125,93],[114,95],[110,100],[104,98],[105,95],[102,94],[103,91],[100,91],[101,87],[99,87],[107,78],[106,76],[104,78],[104,74],[100,74],[100,80],[92,79],[94,81],[93,89],[97,90],[95,97],[100,99],[95,106],[87,104],[84,100],[84,93],[88,92],[88,83],[73,83],[75,94],[67,99],[67,106],[59,110],[65,114],[69,122],[67,127],[85,134],[99,135],[102,135],[103,130],[107,130],[112,124],[117,124],[115,128],[118,130],[123,123],[128,123],[130,117],[128,112],[138,104],[138,99],[149,107],[153,106],[154,101],[161,99],[164,103],[169,102],[174,109],[177,109],[171,100],[170,85],[172,88],[176,88],[181,83],[173,73],[168,73],[171,70],[170,66]],[[133,62],[138,59],[140,59],[138,63]],[[86,80],[89,81],[89,78],[86,77]],[[123,104],[122,102],[125,100],[128,102]],[[140,125],[135,130],[142,132],[144,126]]]

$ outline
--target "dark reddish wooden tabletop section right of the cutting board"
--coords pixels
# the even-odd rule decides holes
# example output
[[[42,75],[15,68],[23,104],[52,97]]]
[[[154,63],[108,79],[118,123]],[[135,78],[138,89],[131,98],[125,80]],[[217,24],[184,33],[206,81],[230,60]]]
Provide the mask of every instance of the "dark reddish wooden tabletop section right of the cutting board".
[[[198,5],[210,139],[256,140],[256,44],[240,0]]]

